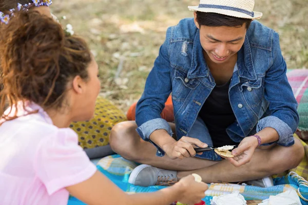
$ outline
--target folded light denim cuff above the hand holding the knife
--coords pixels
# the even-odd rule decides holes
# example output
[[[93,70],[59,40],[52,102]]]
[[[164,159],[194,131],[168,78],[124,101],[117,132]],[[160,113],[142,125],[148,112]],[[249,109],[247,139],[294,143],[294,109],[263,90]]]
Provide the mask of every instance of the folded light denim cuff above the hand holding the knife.
[[[147,122],[144,122],[144,124],[142,124],[140,127],[136,129],[136,131],[144,141],[151,142],[151,144],[157,148],[156,156],[159,157],[163,157],[165,155],[165,152],[149,138],[152,132],[154,132],[155,130],[162,130],[162,129],[166,130],[168,134],[172,136],[172,130],[168,122],[162,118],[151,119]]]

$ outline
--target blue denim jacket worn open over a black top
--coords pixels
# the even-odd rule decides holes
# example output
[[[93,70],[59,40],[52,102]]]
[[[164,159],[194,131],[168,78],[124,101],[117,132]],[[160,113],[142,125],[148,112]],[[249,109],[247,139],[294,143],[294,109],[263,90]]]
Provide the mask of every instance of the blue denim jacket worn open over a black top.
[[[160,114],[172,93],[176,135],[186,136],[215,80],[206,65],[199,29],[193,18],[185,18],[169,27],[166,40],[146,80],[136,109],[137,132],[145,141],[158,129],[172,135],[171,128]],[[286,64],[281,54],[278,34],[257,20],[248,28],[238,52],[237,70],[229,86],[229,100],[236,121],[226,132],[235,142],[265,127],[279,134],[281,146],[294,144],[298,126],[297,101],[286,77]],[[158,149],[157,155],[164,156]]]

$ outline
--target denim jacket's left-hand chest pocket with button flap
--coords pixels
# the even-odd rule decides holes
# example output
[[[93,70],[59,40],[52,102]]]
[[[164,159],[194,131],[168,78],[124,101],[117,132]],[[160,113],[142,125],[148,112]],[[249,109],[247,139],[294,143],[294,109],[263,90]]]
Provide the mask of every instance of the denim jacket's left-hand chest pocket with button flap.
[[[172,99],[184,101],[191,90],[195,90],[200,81],[197,78],[187,78],[188,71],[183,68],[175,68],[175,75],[172,78]]]

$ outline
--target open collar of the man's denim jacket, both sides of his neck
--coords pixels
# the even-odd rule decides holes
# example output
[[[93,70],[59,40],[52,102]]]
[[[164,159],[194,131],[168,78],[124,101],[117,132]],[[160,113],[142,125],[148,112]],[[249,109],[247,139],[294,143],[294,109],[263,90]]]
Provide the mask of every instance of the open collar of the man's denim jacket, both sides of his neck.
[[[188,71],[188,78],[208,77],[209,68],[206,64],[203,55],[203,48],[200,42],[199,29],[196,32],[194,47],[192,48],[191,67]],[[239,77],[244,77],[249,80],[256,80],[257,75],[255,72],[251,47],[249,45],[248,37],[245,36],[245,42],[238,52],[238,74]]]

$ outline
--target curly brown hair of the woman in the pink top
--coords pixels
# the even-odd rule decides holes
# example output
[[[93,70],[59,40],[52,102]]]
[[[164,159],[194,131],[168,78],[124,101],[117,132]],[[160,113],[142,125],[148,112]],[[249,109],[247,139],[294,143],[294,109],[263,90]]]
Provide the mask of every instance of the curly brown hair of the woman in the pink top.
[[[82,38],[67,36],[61,25],[36,11],[18,12],[0,25],[0,116],[18,101],[44,109],[61,108],[67,85],[75,76],[88,79],[91,53]]]

